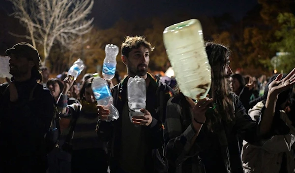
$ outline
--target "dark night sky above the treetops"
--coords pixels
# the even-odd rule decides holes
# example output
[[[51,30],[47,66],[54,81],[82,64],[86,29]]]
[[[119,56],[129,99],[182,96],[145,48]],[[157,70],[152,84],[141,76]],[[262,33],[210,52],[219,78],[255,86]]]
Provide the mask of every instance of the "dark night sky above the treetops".
[[[230,13],[238,20],[257,3],[257,0],[94,0],[90,17],[101,28],[111,27],[119,18],[132,20],[182,11],[208,16]],[[0,0],[1,11],[9,13],[11,6],[9,1]]]

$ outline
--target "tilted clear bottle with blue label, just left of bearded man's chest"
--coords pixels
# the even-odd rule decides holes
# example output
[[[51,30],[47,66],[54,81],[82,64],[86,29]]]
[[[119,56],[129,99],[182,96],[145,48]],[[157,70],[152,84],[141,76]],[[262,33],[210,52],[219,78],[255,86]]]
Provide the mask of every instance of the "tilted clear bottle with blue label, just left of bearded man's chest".
[[[117,120],[119,113],[113,103],[113,96],[111,94],[108,82],[100,77],[95,77],[91,83],[91,89],[98,105],[105,106],[110,110],[110,115],[107,122]]]

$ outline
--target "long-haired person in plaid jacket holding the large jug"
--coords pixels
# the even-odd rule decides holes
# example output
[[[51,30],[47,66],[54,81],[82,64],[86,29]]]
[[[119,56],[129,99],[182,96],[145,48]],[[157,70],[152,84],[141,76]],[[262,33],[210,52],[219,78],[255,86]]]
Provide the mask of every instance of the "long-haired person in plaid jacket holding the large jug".
[[[238,97],[229,92],[230,51],[207,43],[212,68],[209,97],[195,103],[181,91],[167,103],[165,143],[170,173],[243,173],[237,136],[260,145],[272,134],[279,93],[295,84],[295,69],[270,83],[266,106],[259,123],[251,120]]]

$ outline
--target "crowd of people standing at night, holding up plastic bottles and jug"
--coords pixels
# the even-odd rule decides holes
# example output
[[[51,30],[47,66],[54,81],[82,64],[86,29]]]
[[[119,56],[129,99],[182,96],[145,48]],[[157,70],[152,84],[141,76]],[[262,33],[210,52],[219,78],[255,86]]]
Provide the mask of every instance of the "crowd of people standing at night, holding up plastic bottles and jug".
[[[0,85],[0,173],[294,173],[295,69],[233,74],[230,50],[205,46],[211,89],[194,100],[175,78],[148,73],[154,48],[127,36],[127,75],[107,80],[119,112],[111,122],[95,100],[93,74],[50,78],[30,44],[7,49],[13,77]],[[127,81],[135,75],[147,86],[141,116],[128,107]],[[48,149],[52,130],[60,135]]]

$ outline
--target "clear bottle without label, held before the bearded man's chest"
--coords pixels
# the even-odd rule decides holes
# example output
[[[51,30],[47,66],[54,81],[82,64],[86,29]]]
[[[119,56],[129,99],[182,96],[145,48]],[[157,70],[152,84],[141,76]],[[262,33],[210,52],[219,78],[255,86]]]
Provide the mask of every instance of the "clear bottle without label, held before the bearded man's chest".
[[[130,77],[127,83],[127,96],[128,96],[128,107],[129,118],[132,122],[133,116],[143,116],[140,109],[146,108],[146,81],[144,78],[136,75],[134,78]]]

